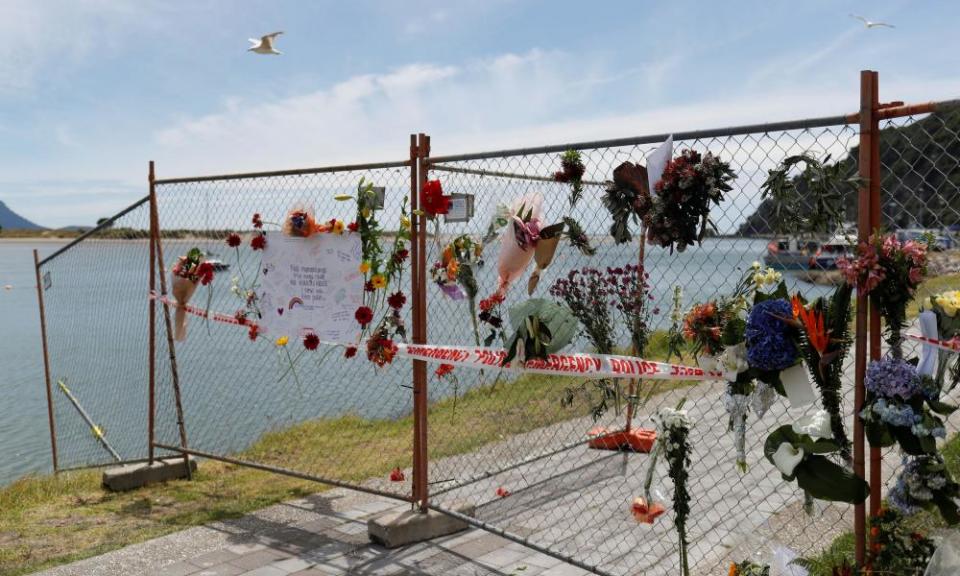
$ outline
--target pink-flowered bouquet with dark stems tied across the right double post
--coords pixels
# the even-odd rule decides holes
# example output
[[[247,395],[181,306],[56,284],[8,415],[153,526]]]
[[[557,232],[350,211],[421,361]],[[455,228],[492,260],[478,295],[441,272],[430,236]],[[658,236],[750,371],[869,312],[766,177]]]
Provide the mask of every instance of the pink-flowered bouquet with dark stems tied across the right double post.
[[[837,268],[861,295],[870,294],[887,322],[887,342],[895,358],[903,355],[901,331],[907,323],[907,304],[927,273],[927,246],[896,236],[874,234],[857,246],[854,259],[839,258]]]

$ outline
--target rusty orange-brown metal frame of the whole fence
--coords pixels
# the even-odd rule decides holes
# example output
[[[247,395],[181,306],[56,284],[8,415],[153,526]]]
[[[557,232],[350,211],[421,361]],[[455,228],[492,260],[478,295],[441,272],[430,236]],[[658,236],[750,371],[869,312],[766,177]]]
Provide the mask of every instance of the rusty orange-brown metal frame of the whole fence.
[[[859,127],[859,175],[863,179],[863,185],[859,189],[857,199],[857,224],[859,240],[869,239],[870,234],[880,228],[881,225],[881,189],[880,189],[880,121],[893,118],[907,117],[918,114],[929,114],[938,109],[950,106],[960,105],[960,100],[948,100],[941,102],[926,102],[920,104],[904,104],[902,101],[881,103],[879,100],[879,75],[875,71],[864,70],[860,73],[860,107],[857,112],[837,116],[825,116],[810,118],[797,121],[773,122],[764,124],[750,124],[742,126],[733,126],[726,128],[716,128],[707,130],[694,130],[686,132],[673,133],[676,139],[697,139],[718,136],[745,135],[754,132],[765,132],[775,130],[791,130],[817,128],[826,126],[853,126]],[[159,214],[157,208],[156,186],[160,184],[178,184],[190,182],[209,182],[225,180],[241,180],[246,178],[273,177],[273,176],[292,176],[306,174],[320,174],[329,172],[342,172],[351,170],[367,170],[377,168],[409,168],[410,170],[410,201],[411,201],[411,280],[410,290],[412,295],[412,341],[415,344],[425,344],[427,339],[427,286],[429,285],[429,275],[427,270],[427,219],[423,217],[419,210],[420,192],[427,181],[429,171],[439,172],[461,172],[470,173],[479,176],[496,176],[503,178],[516,178],[530,181],[548,180],[543,176],[527,174],[510,174],[504,172],[488,172],[484,170],[471,170],[461,167],[450,166],[449,163],[464,160],[480,160],[491,158],[505,158],[511,156],[521,156],[529,154],[559,153],[566,150],[581,150],[586,148],[603,148],[615,146],[645,145],[662,142],[669,134],[655,134],[632,138],[617,138],[610,140],[598,140],[589,142],[573,142],[567,144],[557,144],[541,147],[515,148],[508,150],[494,150],[476,153],[454,154],[446,156],[431,156],[430,136],[424,133],[411,134],[409,141],[409,156],[407,160],[394,162],[379,162],[366,164],[348,164],[340,166],[327,166],[321,168],[305,168],[295,170],[280,170],[270,172],[248,172],[236,174],[207,175],[186,178],[157,178],[154,163],[149,163],[148,186],[149,194],[137,202],[131,204],[126,209],[118,212],[116,215],[106,219],[98,226],[92,228],[86,233],[59,248],[49,256],[40,259],[36,250],[34,250],[34,267],[37,281],[37,295],[40,313],[41,343],[43,348],[44,376],[47,395],[47,409],[50,428],[51,454],[53,459],[53,469],[55,473],[68,469],[60,468],[58,464],[57,434],[56,422],[53,412],[53,401],[51,392],[51,369],[49,362],[49,352],[47,349],[47,321],[44,308],[43,283],[41,269],[44,264],[54,260],[63,252],[73,248],[80,242],[83,242],[90,236],[109,227],[118,218],[128,214],[134,209],[145,203],[150,205],[150,275],[149,290],[157,288],[157,270],[163,270],[163,247],[161,242]],[[600,183],[591,183],[600,184]],[[641,248],[642,259],[642,248]],[[166,279],[164,274],[160,274],[160,293],[167,293]],[[250,467],[258,470],[272,472],[291,476],[298,479],[315,481],[331,486],[349,488],[360,492],[375,494],[378,496],[400,500],[411,503],[415,509],[426,512],[435,510],[445,515],[457,518],[469,525],[498,534],[508,540],[515,541],[530,547],[538,552],[562,559],[566,562],[598,572],[594,566],[585,565],[575,558],[565,556],[557,551],[538,546],[528,540],[504,531],[496,526],[485,523],[481,520],[471,518],[462,513],[445,509],[442,506],[436,506],[430,503],[430,479],[429,479],[429,454],[428,454],[428,390],[427,390],[427,365],[424,360],[414,360],[412,362],[413,370],[411,374],[413,384],[413,482],[411,493],[409,495],[398,495],[388,493],[375,488],[360,486],[349,482],[343,482],[332,478],[324,478],[311,474],[305,474],[296,470],[290,470],[278,466],[261,464],[247,460],[241,460],[224,455],[212,454],[210,452],[190,448],[187,441],[187,430],[183,421],[183,407],[180,403],[179,384],[177,376],[176,352],[173,343],[171,320],[169,306],[164,303],[163,316],[166,332],[166,340],[169,350],[170,370],[174,386],[174,397],[176,399],[177,423],[180,436],[179,445],[159,443],[155,438],[155,387],[156,370],[158,369],[156,358],[156,305],[153,301],[149,302],[149,375],[148,375],[148,438],[147,438],[147,457],[129,460],[128,462],[153,462],[156,458],[157,449],[166,450],[179,455],[184,459],[190,456],[219,460],[222,462]],[[859,413],[864,402],[864,375],[868,360],[877,360],[881,357],[881,318],[877,312],[875,297],[857,296],[856,309],[856,328],[855,328],[855,392],[854,392],[854,414]],[[865,442],[865,433],[863,424],[858,418],[854,418],[854,472],[861,478],[867,478],[866,462],[867,447]],[[869,448],[869,480],[871,486],[869,500],[869,515],[873,516],[880,509],[881,503],[881,451],[879,448]],[[83,466],[89,468],[92,466]],[[76,469],[76,468],[73,468]],[[187,467],[189,470],[189,466]],[[442,492],[442,490],[441,490]],[[856,535],[856,559],[858,564],[863,563],[866,552],[866,521],[867,507],[865,504],[858,504],[854,507],[854,531]]]

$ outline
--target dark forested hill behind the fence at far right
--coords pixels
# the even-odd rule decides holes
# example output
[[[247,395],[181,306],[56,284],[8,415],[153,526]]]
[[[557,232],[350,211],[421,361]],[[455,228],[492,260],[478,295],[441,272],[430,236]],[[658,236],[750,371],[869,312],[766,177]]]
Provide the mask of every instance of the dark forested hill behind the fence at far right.
[[[860,147],[840,160],[843,173],[854,175]],[[936,228],[960,224],[960,110],[934,113],[903,127],[880,133],[883,226]],[[799,186],[798,186],[799,187]],[[856,221],[856,194],[847,197],[846,220]],[[773,213],[764,201],[740,225],[743,236],[773,234]]]

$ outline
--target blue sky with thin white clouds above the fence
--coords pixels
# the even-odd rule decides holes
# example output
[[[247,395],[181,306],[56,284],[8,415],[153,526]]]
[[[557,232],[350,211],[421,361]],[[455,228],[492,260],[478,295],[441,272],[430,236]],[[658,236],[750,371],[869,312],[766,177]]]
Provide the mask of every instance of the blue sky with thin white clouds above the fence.
[[[896,29],[866,30],[863,14]],[[0,200],[90,224],[161,176],[435,154],[960,97],[960,3],[0,2]],[[246,39],[286,32],[279,57]]]

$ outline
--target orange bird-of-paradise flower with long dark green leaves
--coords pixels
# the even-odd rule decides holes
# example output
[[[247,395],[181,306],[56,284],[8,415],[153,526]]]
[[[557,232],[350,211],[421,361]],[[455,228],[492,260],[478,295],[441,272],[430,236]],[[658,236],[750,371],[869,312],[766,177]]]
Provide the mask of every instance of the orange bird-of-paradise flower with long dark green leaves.
[[[806,305],[799,294],[791,299],[800,331],[800,351],[830,415],[833,441],[845,462],[851,462],[850,440],[843,424],[841,386],[843,361],[850,348],[850,286],[838,287],[828,299]]]

